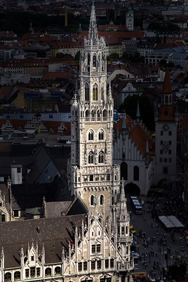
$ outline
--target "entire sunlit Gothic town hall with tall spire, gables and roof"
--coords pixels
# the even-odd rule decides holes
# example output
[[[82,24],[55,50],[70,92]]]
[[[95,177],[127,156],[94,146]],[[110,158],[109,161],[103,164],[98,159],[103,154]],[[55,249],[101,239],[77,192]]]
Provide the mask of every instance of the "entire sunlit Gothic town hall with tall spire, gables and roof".
[[[107,87],[104,40],[92,4],[80,61],[80,89],[71,107],[72,150],[67,168],[75,200],[65,215],[0,224],[0,282],[131,282],[124,180],[112,165],[113,99]],[[1,195],[1,205],[11,195]],[[48,203],[47,203],[48,204]],[[8,206],[7,206],[8,207]],[[63,208],[63,207],[62,207]],[[11,213],[11,207],[8,207]]]

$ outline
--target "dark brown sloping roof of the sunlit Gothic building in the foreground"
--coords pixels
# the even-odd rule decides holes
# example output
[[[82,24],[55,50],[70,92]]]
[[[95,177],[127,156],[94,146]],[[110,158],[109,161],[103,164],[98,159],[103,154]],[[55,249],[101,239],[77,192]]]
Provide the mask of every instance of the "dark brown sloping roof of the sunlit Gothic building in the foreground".
[[[41,252],[42,244],[45,249],[45,263],[60,263],[62,247],[67,247],[74,242],[75,227],[81,230],[82,220],[86,214],[62,216],[59,218],[40,218],[23,221],[10,221],[0,223],[0,248],[4,247],[5,268],[20,266],[20,249],[26,254],[28,242],[38,242],[38,251]]]

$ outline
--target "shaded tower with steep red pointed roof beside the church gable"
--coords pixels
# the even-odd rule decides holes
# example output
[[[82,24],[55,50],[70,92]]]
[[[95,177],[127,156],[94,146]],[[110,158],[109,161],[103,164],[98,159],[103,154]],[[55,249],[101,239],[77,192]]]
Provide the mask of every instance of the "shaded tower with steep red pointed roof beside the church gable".
[[[175,182],[177,146],[177,105],[173,107],[173,90],[169,70],[166,70],[161,91],[161,106],[155,109],[156,173],[154,182],[161,179]]]

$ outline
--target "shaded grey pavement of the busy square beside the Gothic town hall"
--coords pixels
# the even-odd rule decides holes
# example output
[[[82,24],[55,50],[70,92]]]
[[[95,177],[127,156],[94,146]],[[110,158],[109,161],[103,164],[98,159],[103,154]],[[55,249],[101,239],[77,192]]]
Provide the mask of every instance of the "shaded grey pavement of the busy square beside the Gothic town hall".
[[[147,210],[147,206],[149,205],[148,202],[148,198],[144,197],[144,196],[140,196],[140,198],[142,200],[144,200],[145,203],[145,210]],[[160,203],[159,203],[159,209],[160,209]],[[160,225],[160,223],[158,223],[158,228],[156,228],[156,222],[152,219],[152,214],[151,212],[147,213],[145,212],[145,214],[143,215],[136,215],[134,214],[131,206],[130,206],[130,195],[127,195],[127,208],[128,211],[131,211],[131,215],[130,215],[130,225],[133,225],[135,230],[136,230],[136,235],[134,236],[134,240],[133,243],[138,243],[138,239],[137,239],[137,234],[140,231],[140,229],[142,230],[142,232],[146,233],[146,240],[148,239],[148,237],[156,238],[156,241],[154,243],[149,243],[148,248],[145,249],[144,241],[143,239],[141,241],[139,241],[139,254],[142,256],[142,254],[145,253],[145,259],[142,256],[142,259],[140,261],[138,261],[138,264],[135,265],[135,272],[140,272],[140,271],[146,271],[147,274],[151,274],[151,268],[154,265],[154,261],[155,263],[159,264],[159,269],[154,269],[153,270],[153,278],[158,279],[158,277],[161,277],[161,266],[165,266],[166,265],[166,260],[165,260],[165,255],[162,255],[161,252],[161,247],[158,245],[158,240],[162,239],[167,239],[167,246],[163,247],[163,251],[166,251],[168,247],[171,248],[171,254],[176,254],[176,251],[179,251],[180,255],[182,255],[182,251],[180,251],[181,246],[185,247],[185,251],[183,253],[183,256],[185,258],[186,256],[186,244],[184,241],[184,238],[182,238],[182,240],[180,241],[180,232],[175,232],[175,241],[173,242],[172,238],[171,238],[171,234],[170,232],[168,232],[168,230],[163,230],[162,226]],[[153,224],[153,228],[152,228],[152,224]],[[158,230],[158,235],[157,235],[157,230]],[[163,232],[165,232],[165,237],[163,236]],[[151,256],[149,258],[149,252],[154,252],[154,256]],[[157,253],[157,256],[156,256]],[[146,257],[147,256],[147,257]],[[143,260],[146,260],[147,262],[147,266],[143,265]],[[177,261],[177,264],[179,262]],[[168,265],[174,265],[174,261],[172,261],[171,258],[168,258]],[[137,268],[137,269],[136,269]],[[163,273],[162,273],[163,274]],[[155,277],[154,277],[155,276]],[[164,275],[163,275],[164,276]]]

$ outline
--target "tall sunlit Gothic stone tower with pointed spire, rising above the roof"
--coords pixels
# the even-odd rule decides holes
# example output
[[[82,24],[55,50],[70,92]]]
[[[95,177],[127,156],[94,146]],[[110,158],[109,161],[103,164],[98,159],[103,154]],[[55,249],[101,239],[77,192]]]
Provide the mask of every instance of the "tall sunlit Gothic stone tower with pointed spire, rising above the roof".
[[[72,153],[68,186],[86,207],[104,208],[115,223],[120,198],[120,167],[112,165],[113,98],[107,88],[104,41],[98,36],[92,4],[89,33],[80,58],[80,89],[71,107]]]

